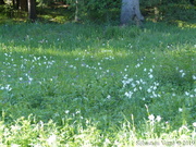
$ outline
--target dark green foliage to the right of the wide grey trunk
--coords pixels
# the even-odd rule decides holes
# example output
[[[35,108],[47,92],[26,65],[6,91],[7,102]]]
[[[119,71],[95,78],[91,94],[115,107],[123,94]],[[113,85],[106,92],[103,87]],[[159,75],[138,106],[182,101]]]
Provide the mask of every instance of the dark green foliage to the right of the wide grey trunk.
[[[156,19],[156,21],[194,21],[196,15],[195,5],[186,0],[142,0],[140,5],[144,8],[144,14],[151,15],[150,17]]]

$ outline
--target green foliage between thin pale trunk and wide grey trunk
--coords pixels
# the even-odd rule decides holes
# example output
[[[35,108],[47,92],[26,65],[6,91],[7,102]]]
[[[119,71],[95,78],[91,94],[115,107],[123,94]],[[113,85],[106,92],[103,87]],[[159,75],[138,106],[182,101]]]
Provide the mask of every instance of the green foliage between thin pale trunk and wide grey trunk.
[[[113,0],[68,0],[71,10],[78,9],[78,17],[82,21],[96,23],[114,22],[119,20],[121,1]]]

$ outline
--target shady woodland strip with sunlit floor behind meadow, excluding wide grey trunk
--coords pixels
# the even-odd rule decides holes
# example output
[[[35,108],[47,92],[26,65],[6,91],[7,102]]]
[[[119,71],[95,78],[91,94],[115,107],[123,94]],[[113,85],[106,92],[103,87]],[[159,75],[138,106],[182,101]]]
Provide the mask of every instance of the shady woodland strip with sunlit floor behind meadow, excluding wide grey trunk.
[[[114,23],[120,20],[121,0],[0,0],[0,20],[29,20],[29,5],[36,7],[33,20],[64,23],[68,21]],[[29,4],[27,4],[29,3]],[[147,21],[169,23],[196,20],[196,0],[140,0]]]

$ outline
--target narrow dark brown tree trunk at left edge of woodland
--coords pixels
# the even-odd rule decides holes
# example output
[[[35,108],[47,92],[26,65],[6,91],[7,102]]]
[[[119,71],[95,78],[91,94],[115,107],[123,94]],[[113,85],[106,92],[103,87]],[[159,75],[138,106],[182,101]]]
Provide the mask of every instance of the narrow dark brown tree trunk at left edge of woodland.
[[[36,17],[36,0],[28,0],[28,19],[34,22]]]

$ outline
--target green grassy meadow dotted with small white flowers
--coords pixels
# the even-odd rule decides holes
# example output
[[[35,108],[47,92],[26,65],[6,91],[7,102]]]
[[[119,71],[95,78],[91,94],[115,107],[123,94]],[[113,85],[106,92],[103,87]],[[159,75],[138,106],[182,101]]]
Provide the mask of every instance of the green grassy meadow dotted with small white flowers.
[[[195,34],[1,24],[0,146],[194,146]]]

